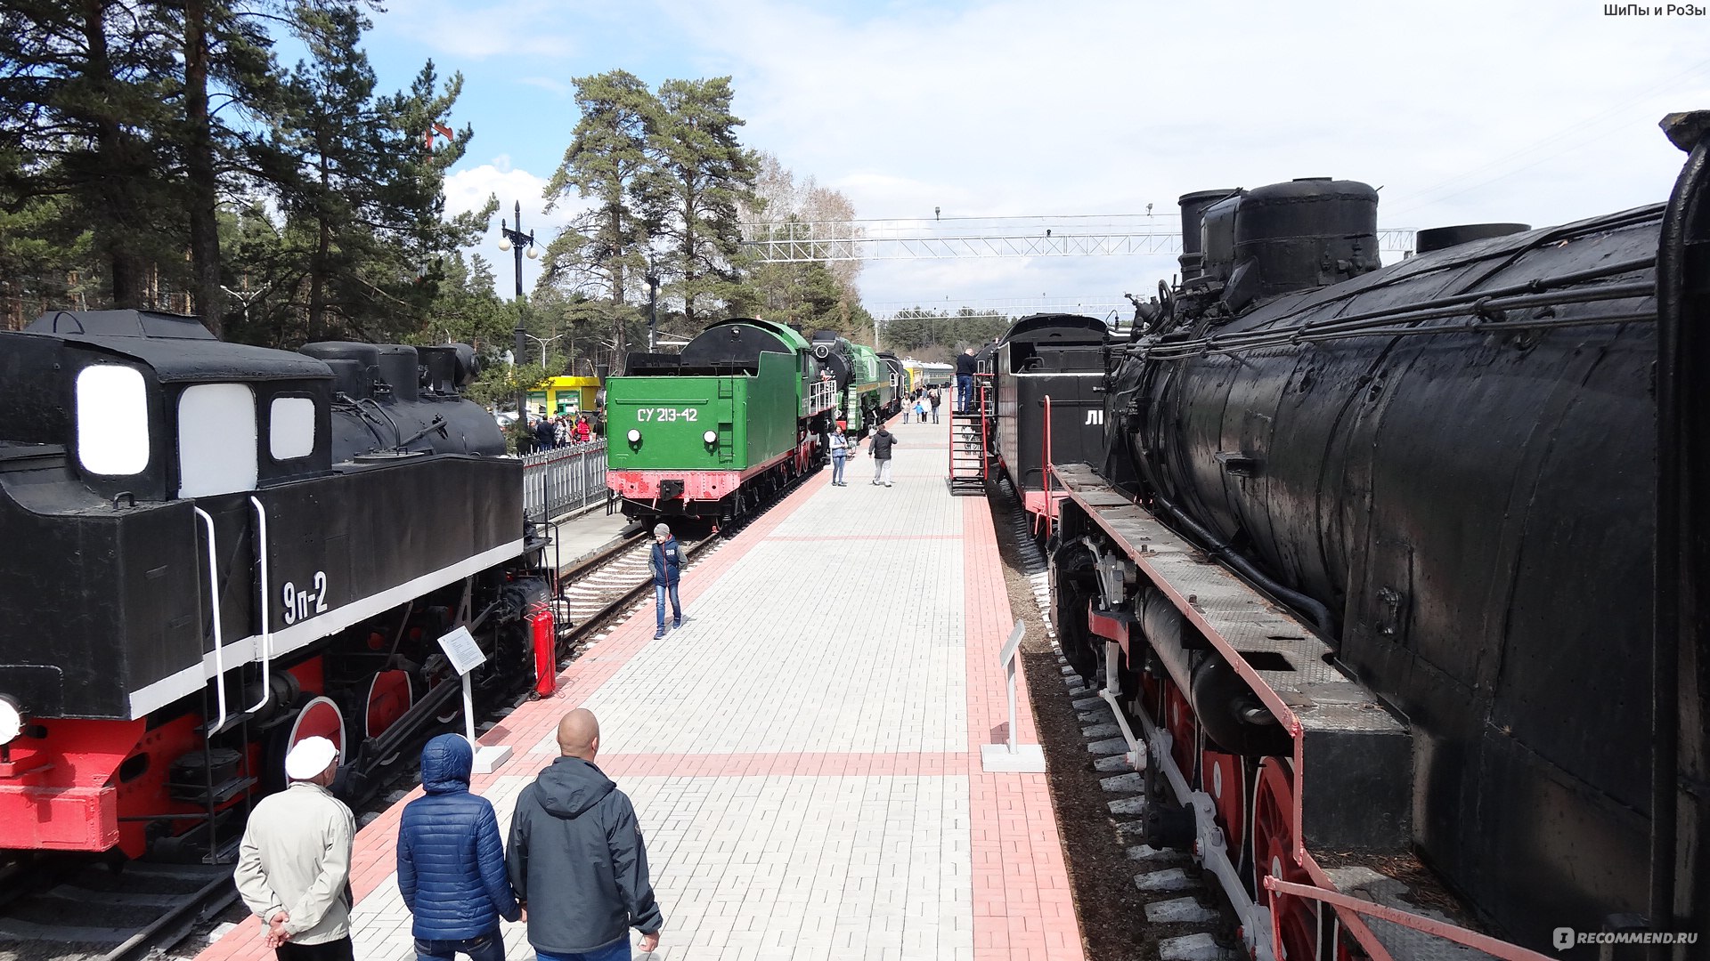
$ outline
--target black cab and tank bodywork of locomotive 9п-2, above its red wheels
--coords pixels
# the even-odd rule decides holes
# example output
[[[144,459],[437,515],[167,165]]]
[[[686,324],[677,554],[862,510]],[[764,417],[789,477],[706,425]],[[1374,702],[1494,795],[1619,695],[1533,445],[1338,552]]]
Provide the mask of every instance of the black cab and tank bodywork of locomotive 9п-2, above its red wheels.
[[[238,686],[262,634],[287,657],[522,552],[522,462],[475,457],[498,424],[441,390],[474,352],[424,385],[414,347],[320,347],[147,311],[0,333],[0,696],[142,718],[219,660]]]

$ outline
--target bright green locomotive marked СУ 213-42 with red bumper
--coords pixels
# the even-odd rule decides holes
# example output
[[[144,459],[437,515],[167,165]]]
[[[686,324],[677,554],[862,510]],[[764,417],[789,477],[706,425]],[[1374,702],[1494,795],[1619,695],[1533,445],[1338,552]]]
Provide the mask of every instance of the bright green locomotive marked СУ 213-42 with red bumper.
[[[728,523],[823,462],[850,373],[783,323],[708,325],[605,383],[605,486],[628,516]]]

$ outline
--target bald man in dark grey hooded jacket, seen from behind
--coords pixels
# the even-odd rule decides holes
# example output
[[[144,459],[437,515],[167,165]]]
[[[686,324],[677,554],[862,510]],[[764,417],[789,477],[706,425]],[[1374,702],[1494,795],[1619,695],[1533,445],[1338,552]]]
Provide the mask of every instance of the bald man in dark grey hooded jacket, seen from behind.
[[[597,766],[600,722],[576,708],[557,723],[561,758],[516,797],[504,855],[528,910],[540,961],[628,961],[629,929],[658,947],[665,917],[653,899],[634,805]]]

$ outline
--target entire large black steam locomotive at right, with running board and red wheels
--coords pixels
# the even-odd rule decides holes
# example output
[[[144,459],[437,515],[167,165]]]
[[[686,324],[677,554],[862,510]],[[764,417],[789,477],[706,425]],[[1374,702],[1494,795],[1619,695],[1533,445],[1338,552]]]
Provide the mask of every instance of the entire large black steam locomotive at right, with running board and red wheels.
[[[1053,614],[1137,722],[1149,841],[1253,956],[1710,937],[1705,157],[1667,205],[1424,231],[1387,268],[1366,185],[1182,198],[1103,458],[1055,472]]]

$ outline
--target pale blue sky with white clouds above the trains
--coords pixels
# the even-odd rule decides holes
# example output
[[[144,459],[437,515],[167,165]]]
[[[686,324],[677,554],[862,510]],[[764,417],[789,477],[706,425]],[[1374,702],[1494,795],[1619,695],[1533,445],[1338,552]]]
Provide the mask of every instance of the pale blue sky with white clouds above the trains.
[[[475,137],[448,202],[522,200],[542,233],[563,222],[540,186],[576,123],[571,79],[612,68],[732,75],[744,142],[860,217],[1163,215],[1190,190],[1334,174],[1382,186],[1387,227],[1542,226],[1666,198],[1683,156],[1655,123],[1710,108],[1710,17],[1601,0],[386,7],[368,38],[383,87],[428,58],[465,77],[453,121]],[[860,289],[869,306],[1117,299],[1173,270],[876,262]]]

